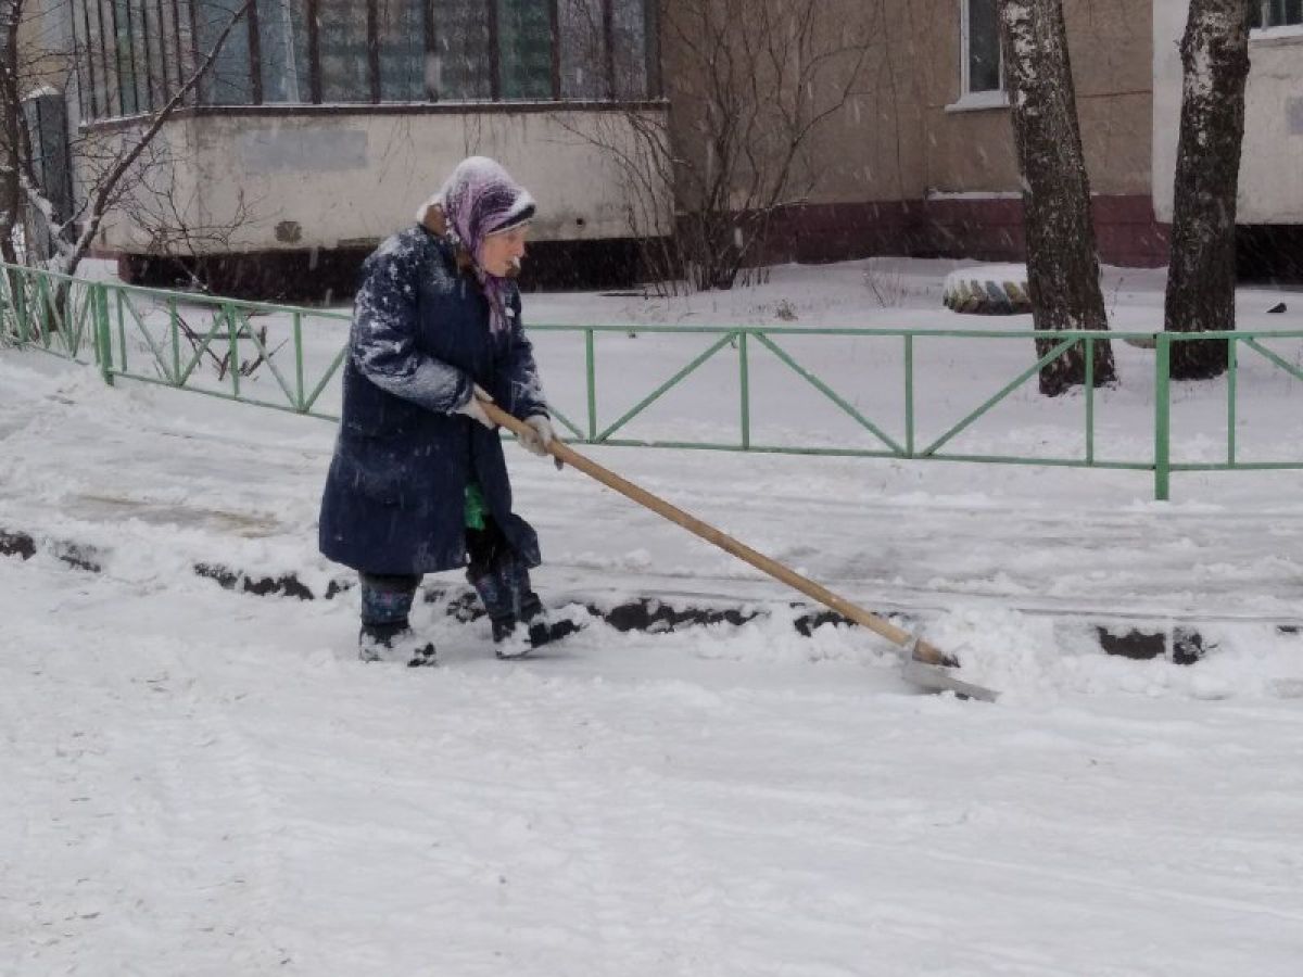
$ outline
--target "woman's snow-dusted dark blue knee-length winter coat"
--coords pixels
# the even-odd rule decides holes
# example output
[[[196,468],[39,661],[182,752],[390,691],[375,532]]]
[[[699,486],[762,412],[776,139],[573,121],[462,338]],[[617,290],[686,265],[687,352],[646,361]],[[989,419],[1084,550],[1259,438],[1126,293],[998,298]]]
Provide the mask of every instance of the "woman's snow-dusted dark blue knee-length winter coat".
[[[516,289],[507,318],[508,328],[490,335],[474,276],[423,227],[366,259],[322,496],[326,556],[366,573],[465,565],[465,488],[476,481],[519,556],[538,565],[538,537],[511,511],[498,432],[451,413],[472,382],[517,417],[546,413]]]

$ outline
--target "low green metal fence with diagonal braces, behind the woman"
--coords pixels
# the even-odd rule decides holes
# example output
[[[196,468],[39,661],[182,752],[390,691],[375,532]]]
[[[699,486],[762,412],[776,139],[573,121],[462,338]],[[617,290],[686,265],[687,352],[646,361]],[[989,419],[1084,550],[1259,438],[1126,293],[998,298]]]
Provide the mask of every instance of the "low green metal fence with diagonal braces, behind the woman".
[[[0,264],[0,336],[22,347],[95,362],[106,382],[117,378],[190,389],[210,396],[237,400],[259,406],[289,410],[335,419],[323,404],[344,361],[343,335],[348,313],[263,302],[210,298],[190,293],[147,289],[109,281],[85,281],[26,267]],[[326,327],[323,330],[323,327]],[[319,333],[327,333],[323,344]],[[614,419],[603,418],[598,399],[598,339],[629,336],[628,326],[533,326],[538,341],[543,336],[573,336],[582,344],[568,357],[579,367],[582,395],[581,408],[556,413],[558,423],[569,439],[581,444],[636,446],[680,449],[713,449],[744,452],[777,452],[902,460],[941,460],[1014,465],[1059,465],[1149,472],[1154,498],[1170,495],[1174,472],[1303,469],[1303,459],[1246,460],[1237,435],[1240,418],[1242,361],[1256,357],[1269,363],[1273,374],[1303,382],[1303,369],[1295,354],[1291,362],[1268,343],[1298,347],[1303,331],[1281,332],[1204,332],[1181,335],[1166,332],[1049,332],[1028,330],[860,330],[860,328],[796,328],[796,327],[636,327],[640,336],[672,335],[683,341],[700,343],[701,349],[680,369],[652,388]],[[865,416],[851,397],[794,354],[797,341],[846,343],[872,339],[896,345],[899,356],[899,421]],[[1015,343],[1031,350],[1029,340],[1049,340],[1048,352],[1038,360],[1016,358],[1016,373],[1001,383],[992,383],[992,392],[973,404],[958,419],[932,430],[924,436],[919,423],[919,367],[921,344],[952,340],[960,344]],[[1097,403],[1089,370],[1093,345],[1101,339],[1135,340],[1153,347],[1153,431],[1145,438],[1152,446],[1143,457],[1108,456],[1097,449]],[[1217,436],[1225,440],[1225,453],[1216,461],[1173,460],[1173,384],[1170,374],[1171,347],[1183,341],[1226,341],[1229,370],[1225,376],[1225,426],[1218,423]],[[288,349],[287,349],[288,347]],[[947,451],[962,432],[1031,382],[1040,369],[1054,358],[1083,349],[1087,383],[1080,392],[1080,451],[1029,457],[1001,452]],[[870,447],[848,444],[764,443],[754,436],[752,421],[752,369],[757,353],[799,378],[835,410],[850,418],[852,426],[866,434]],[[731,358],[734,362],[728,363]],[[684,384],[706,363],[718,365],[736,378],[736,440],[705,442],[688,439],[648,439],[625,436],[629,423],[658,403],[666,393]],[[265,371],[265,373],[263,373]],[[249,378],[263,373],[258,383]],[[270,376],[267,382],[265,378]],[[549,375],[551,386],[552,376]],[[337,387],[337,384],[336,384]],[[1300,388],[1303,392],[1303,388]],[[1074,404],[1075,409],[1075,404]],[[894,429],[894,430],[893,430]],[[1209,432],[1201,431],[1208,435]]]

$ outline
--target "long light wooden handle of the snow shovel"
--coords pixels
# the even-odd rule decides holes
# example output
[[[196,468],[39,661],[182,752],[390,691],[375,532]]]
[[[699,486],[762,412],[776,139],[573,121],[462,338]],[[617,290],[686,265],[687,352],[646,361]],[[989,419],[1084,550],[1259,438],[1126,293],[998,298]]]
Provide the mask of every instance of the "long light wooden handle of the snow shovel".
[[[523,434],[529,436],[532,434],[529,426],[524,421],[512,417],[496,404],[482,401],[481,406],[483,406],[485,413],[489,414],[489,418],[494,423],[502,425],[516,436],[521,436]],[[607,488],[614,488],[620,495],[633,499],[633,502],[640,505],[645,505],[658,516],[663,516],[671,522],[678,522],[689,533],[701,537],[708,543],[714,543],[721,550],[732,554],[740,560],[745,560],[756,569],[767,573],[783,584],[787,584],[790,588],[800,590],[807,597],[818,601],[825,607],[837,611],[856,624],[881,634],[887,641],[900,645],[902,647],[911,647],[915,658],[919,660],[926,662],[928,664],[951,664],[951,660],[945,655],[945,653],[941,651],[941,649],[929,645],[921,638],[916,640],[909,632],[895,627],[890,621],[878,617],[876,614],[865,611],[859,604],[851,603],[843,597],[838,597],[821,584],[816,584],[813,580],[803,577],[791,567],[765,556],[762,552],[752,550],[749,546],[734,539],[727,533],[719,531],[709,522],[702,522],[700,518],[684,512],[678,505],[671,505],[665,499],[649,492],[646,488],[633,485],[633,482],[627,478],[622,478],[610,469],[598,465],[592,459],[580,455],[559,438],[552,438],[547,446],[547,451],[552,455],[552,457],[560,459],[572,468],[577,468],[584,474],[595,478]]]

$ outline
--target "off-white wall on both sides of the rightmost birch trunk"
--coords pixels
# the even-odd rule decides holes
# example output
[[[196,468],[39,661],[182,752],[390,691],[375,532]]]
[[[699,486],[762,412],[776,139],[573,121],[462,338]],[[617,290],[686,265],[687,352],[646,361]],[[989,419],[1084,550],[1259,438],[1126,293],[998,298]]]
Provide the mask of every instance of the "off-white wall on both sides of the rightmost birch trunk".
[[[1181,130],[1181,36],[1190,5],[1153,5],[1153,203],[1171,220]],[[1303,224],[1303,29],[1250,36],[1244,147],[1237,219],[1240,224]]]

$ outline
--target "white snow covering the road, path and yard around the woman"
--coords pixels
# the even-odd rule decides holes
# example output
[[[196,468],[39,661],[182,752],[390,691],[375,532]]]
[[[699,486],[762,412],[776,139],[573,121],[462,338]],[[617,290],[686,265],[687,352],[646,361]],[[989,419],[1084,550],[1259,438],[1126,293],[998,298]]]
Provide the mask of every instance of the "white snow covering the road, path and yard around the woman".
[[[526,313],[1025,326],[941,310],[951,267],[779,268],[730,296],[528,296]],[[1161,275],[1109,275],[1115,324],[1156,328]],[[1281,300],[1289,311],[1267,315]],[[1303,328],[1303,296],[1246,289],[1240,313]],[[605,340],[629,388],[610,393],[612,418],[666,379],[672,357],[649,339]],[[581,400],[568,343],[539,336],[545,380]],[[1298,348],[1280,347],[1291,362]],[[1126,451],[1148,436],[1152,353],[1117,353],[1101,430]],[[632,378],[644,361],[650,376]],[[857,405],[885,409],[874,389],[899,362],[851,366],[866,376]],[[1016,373],[995,383],[956,344],[930,366],[938,418]],[[1303,456],[1303,384],[1253,369],[1243,417]],[[688,387],[649,423],[715,436],[715,393]],[[1184,449],[1214,456],[1225,388],[1174,399]],[[814,408],[771,400],[775,430],[817,436]],[[1079,417],[1080,400],[1063,403]],[[985,447],[1048,438],[1066,410],[1033,393],[1007,408],[973,431]],[[426,603],[417,624],[442,667],[362,666],[351,591],[259,598],[193,572],[293,573],[317,594],[345,580],[315,554],[332,436],[0,349],[0,530],[42,545],[0,558],[0,973],[1298,972],[1298,472],[1186,473],[1162,504],[1127,472],[589,452],[904,614],[1005,693],[986,706],[917,694],[860,630],[799,637],[797,595],[513,447],[549,603],[769,614],[662,634],[594,620],[504,664],[483,621]],[[60,560],[69,543],[98,572]],[[1098,646],[1097,625],[1173,624],[1213,645],[1203,662]]]

